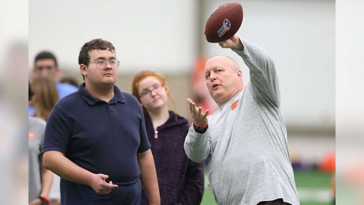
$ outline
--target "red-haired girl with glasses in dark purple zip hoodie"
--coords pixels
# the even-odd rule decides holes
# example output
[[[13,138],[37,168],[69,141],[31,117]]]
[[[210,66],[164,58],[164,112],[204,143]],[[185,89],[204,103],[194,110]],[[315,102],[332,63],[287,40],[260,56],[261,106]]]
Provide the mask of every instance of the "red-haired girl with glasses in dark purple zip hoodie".
[[[143,108],[145,127],[157,170],[161,205],[198,205],[204,189],[203,163],[187,158],[183,143],[188,120],[168,110],[169,88],[161,73],[141,71],[132,81],[132,94]],[[141,205],[149,204],[142,190]]]

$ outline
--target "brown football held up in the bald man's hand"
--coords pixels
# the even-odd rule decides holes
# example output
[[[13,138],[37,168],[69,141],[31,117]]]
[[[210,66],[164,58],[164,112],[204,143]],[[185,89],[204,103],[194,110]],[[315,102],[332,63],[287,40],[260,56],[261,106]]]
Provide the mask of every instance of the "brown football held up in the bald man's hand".
[[[243,21],[243,8],[239,3],[226,3],[217,7],[206,21],[205,35],[210,43],[231,38]]]

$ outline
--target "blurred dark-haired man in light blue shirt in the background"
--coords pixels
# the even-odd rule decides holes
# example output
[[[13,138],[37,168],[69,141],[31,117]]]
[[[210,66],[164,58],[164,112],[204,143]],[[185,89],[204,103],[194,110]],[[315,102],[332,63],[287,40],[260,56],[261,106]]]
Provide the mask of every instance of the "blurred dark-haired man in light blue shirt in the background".
[[[58,62],[54,54],[48,51],[42,51],[36,55],[32,69],[32,77],[43,76],[54,80],[56,82],[59,99],[78,90],[78,86],[58,81],[60,74],[61,70],[58,67]],[[28,113],[29,115],[34,115],[35,109],[29,106]]]

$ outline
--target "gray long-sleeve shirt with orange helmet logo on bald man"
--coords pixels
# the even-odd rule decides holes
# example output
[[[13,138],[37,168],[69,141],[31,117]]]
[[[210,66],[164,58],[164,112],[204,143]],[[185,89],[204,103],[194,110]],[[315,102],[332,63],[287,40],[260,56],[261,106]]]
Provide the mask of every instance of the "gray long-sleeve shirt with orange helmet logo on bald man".
[[[244,50],[233,51],[249,67],[250,81],[208,117],[204,134],[190,127],[186,154],[195,162],[209,160],[208,178],[218,205],[256,205],[277,198],[299,205],[273,60],[253,43],[241,42]]]

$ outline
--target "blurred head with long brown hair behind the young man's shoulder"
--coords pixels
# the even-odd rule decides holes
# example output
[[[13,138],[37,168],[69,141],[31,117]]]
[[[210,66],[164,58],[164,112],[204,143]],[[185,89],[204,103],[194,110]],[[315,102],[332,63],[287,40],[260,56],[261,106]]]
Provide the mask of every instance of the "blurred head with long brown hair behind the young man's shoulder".
[[[34,95],[29,104],[35,108],[34,117],[47,121],[53,106],[58,101],[56,82],[43,76],[34,77],[31,82]]]

